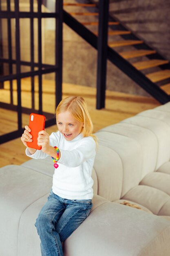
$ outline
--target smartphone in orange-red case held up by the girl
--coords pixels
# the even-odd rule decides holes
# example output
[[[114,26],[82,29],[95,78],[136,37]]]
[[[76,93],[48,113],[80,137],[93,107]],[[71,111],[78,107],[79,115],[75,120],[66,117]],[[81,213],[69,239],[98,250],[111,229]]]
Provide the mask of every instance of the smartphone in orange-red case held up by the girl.
[[[37,145],[38,141],[38,132],[44,130],[45,127],[45,116],[39,115],[35,113],[31,113],[29,117],[29,128],[31,129],[31,135],[33,136],[31,139],[33,141],[27,142],[27,146],[29,148],[35,148],[40,150],[42,147]]]

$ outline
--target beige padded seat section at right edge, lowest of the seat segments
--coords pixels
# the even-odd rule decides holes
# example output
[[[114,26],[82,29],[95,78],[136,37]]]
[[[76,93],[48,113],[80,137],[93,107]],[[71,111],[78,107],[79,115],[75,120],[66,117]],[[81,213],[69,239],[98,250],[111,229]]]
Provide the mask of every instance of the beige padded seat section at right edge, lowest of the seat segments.
[[[141,204],[156,215],[170,216],[170,205],[169,208],[168,205],[165,206],[166,211],[163,210],[164,205],[170,201],[170,196],[159,189],[146,185],[135,186],[121,199]]]

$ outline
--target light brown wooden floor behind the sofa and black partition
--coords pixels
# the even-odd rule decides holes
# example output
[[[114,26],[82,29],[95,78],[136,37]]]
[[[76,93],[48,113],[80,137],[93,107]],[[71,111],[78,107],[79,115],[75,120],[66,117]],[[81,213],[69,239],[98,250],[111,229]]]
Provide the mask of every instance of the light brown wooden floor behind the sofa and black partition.
[[[14,104],[17,104],[16,86],[13,86]],[[38,87],[35,88],[35,107],[38,108]],[[43,81],[43,110],[55,114],[54,82]],[[142,97],[121,92],[106,91],[106,108],[96,110],[96,89],[81,85],[63,84],[63,98],[70,95],[84,97],[94,125],[94,132],[110,124],[132,117],[137,113],[155,108],[160,103],[152,97]],[[0,101],[9,103],[9,85],[0,89]],[[30,81],[22,80],[22,106],[31,107]],[[28,124],[29,116],[22,115],[22,125]],[[17,129],[17,114],[14,111],[0,108],[0,135]],[[56,131],[57,126],[46,129],[49,134]],[[0,167],[8,164],[22,164],[30,158],[25,155],[25,146],[20,138],[0,145]]]

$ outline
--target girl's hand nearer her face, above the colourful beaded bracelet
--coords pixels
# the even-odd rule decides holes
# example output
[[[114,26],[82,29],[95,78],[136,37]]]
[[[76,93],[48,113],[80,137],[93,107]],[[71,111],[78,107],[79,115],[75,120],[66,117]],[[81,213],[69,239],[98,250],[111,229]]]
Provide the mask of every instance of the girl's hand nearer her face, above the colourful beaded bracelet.
[[[42,147],[42,152],[46,153],[46,154],[50,154],[50,141],[49,141],[49,134],[45,131],[42,130],[40,132],[38,132],[38,146]]]

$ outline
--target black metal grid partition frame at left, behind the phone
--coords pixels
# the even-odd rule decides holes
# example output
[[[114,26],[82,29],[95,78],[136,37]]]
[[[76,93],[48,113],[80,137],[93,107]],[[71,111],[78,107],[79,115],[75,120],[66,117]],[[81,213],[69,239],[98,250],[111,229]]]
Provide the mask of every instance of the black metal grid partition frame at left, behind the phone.
[[[15,11],[10,9],[10,0],[7,0],[7,11],[0,9],[0,19],[6,18],[8,21],[8,51],[9,58],[0,58],[0,64],[9,64],[9,75],[0,76],[0,83],[10,81],[11,102],[0,102],[0,108],[6,108],[18,112],[18,130],[9,132],[0,136],[0,144],[7,142],[11,139],[20,137],[24,128],[22,128],[22,113],[30,114],[31,112],[44,114],[48,119],[46,127],[56,123],[54,113],[47,113],[42,111],[42,74],[55,72],[55,106],[59,104],[62,99],[62,17],[63,17],[63,1],[55,1],[55,11],[53,13],[43,13],[41,10],[42,0],[38,0],[38,12],[33,11],[33,0],[30,0],[30,11],[19,11],[19,0],[15,0]],[[11,50],[11,18],[15,18],[15,51],[16,59],[12,59]],[[20,18],[30,18],[30,40],[31,40],[31,61],[21,61],[20,59]],[[33,19],[38,18],[38,63],[34,62],[34,45],[33,45]],[[42,63],[42,18],[55,18],[55,65]],[[0,28],[1,29],[1,28]],[[0,42],[1,45],[1,42]],[[16,64],[16,74],[13,74],[12,65]],[[21,65],[31,67],[29,72],[21,72]],[[38,70],[34,70],[38,67]],[[38,76],[39,81],[39,110],[35,110],[34,104],[34,77]],[[21,79],[31,77],[31,95],[32,95],[32,108],[23,108],[21,106]],[[17,96],[18,105],[13,105],[13,79],[17,80]]]

